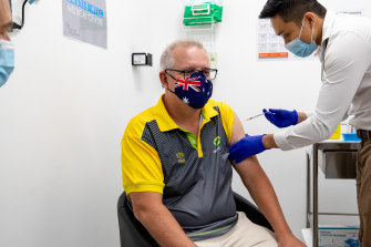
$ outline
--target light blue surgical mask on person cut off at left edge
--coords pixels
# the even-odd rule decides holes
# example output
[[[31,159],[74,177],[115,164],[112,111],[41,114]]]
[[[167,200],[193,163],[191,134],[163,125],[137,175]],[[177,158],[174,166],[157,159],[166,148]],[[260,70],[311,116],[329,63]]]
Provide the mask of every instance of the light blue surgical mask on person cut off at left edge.
[[[6,84],[14,70],[14,45],[7,40],[0,40],[0,88]]]

